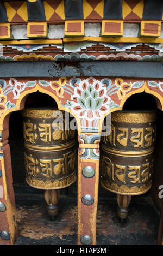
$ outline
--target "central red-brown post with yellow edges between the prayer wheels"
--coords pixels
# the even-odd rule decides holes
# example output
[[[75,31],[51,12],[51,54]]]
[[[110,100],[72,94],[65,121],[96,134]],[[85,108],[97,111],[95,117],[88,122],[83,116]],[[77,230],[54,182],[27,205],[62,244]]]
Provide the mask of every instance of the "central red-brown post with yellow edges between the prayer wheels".
[[[99,134],[80,134],[86,136]],[[82,144],[78,151],[78,245],[96,245],[96,213],[99,181],[99,141]],[[92,157],[91,157],[92,156]]]

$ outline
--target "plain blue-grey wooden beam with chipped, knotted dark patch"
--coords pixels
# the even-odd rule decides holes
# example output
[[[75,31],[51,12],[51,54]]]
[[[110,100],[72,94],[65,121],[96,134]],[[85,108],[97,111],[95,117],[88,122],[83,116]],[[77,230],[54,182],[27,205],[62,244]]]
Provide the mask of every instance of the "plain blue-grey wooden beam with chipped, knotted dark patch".
[[[21,70],[21,72],[20,72]],[[0,76],[5,77],[60,77],[60,76],[107,76],[130,78],[163,78],[161,62],[149,61],[83,61],[64,64],[46,62],[2,62]]]

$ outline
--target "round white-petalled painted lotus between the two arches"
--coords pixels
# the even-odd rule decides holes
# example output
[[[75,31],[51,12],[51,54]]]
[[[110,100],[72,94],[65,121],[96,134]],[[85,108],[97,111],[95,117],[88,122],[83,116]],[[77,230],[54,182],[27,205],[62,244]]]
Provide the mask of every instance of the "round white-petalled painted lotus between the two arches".
[[[95,78],[87,78],[79,82],[71,96],[72,111],[87,120],[100,119],[108,111],[110,97],[107,96],[106,85]]]

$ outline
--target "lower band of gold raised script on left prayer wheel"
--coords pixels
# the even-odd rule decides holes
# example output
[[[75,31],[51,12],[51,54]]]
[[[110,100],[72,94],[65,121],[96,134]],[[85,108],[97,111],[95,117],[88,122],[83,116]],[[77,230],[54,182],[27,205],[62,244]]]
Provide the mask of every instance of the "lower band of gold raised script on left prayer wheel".
[[[40,174],[47,178],[53,178],[54,175],[68,174],[70,170],[74,170],[75,152],[62,154],[59,159],[36,159],[30,154],[25,156],[26,171],[28,175],[37,177]]]

